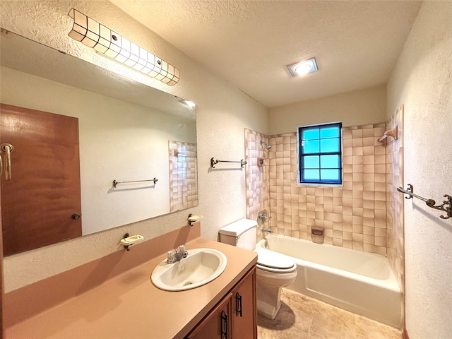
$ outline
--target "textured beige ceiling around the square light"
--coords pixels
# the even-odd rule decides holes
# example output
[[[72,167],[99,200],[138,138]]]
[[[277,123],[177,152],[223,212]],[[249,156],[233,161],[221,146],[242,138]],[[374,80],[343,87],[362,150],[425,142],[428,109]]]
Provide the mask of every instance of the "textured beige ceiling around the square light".
[[[421,4],[111,2],[267,107],[386,83]],[[292,78],[286,65],[311,57],[319,71]]]

